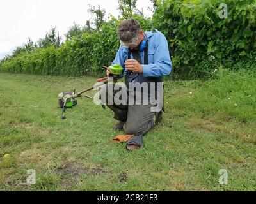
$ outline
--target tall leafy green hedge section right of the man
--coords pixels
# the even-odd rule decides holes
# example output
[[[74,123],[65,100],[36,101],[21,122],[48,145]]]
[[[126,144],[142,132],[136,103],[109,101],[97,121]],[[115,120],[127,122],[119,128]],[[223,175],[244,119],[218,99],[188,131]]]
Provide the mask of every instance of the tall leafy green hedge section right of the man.
[[[219,8],[227,4],[228,18]],[[168,38],[174,72],[205,73],[215,62],[252,67],[256,55],[255,0],[166,0],[154,13],[154,27]],[[255,66],[254,66],[255,68]]]

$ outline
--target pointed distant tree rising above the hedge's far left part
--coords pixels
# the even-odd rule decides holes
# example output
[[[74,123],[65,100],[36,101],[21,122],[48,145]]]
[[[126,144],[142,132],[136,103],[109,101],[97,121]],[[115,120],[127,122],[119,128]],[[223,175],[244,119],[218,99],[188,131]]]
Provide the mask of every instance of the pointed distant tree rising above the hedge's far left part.
[[[51,27],[50,31],[45,34],[44,38],[38,40],[39,47],[49,47],[54,46],[55,48],[60,47],[61,38],[59,32],[56,30],[56,27]]]

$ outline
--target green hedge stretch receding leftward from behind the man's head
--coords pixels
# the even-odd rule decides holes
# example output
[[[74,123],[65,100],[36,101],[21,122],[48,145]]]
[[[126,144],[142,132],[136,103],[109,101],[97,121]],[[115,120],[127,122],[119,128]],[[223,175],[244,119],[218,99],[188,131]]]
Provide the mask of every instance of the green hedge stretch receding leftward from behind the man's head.
[[[151,27],[150,20],[136,17],[143,29]],[[116,30],[120,22],[113,17],[100,31],[83,33],[65,41],[59,48],[37,48],[9,57],[0,63],[1,71],[35,73],[41,75],[79,76],[103,72],[103,66],[111,64],[119,48]]]

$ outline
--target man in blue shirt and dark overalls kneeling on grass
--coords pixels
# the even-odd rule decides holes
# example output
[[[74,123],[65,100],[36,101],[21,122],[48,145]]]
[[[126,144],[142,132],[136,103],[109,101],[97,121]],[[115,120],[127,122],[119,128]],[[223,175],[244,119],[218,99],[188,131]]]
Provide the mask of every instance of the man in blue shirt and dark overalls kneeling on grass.
[[[156,29],[143,32],[137,20],[124,20],[118,38],[121,46],[112,65],[124,68],[125,87],[108,84],[100,90],[100,99],[119,121],[113,128],[134,135],[126,147],[135,150],[143,145],[143,135],[162,119],[162,78],[172,71],[172,62],[165,36]],[[109,68],[107,75],[111,77]],[[115,103],[117,92],[121,103]],[[125,94],[128,97],[119,97]]]

